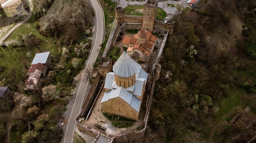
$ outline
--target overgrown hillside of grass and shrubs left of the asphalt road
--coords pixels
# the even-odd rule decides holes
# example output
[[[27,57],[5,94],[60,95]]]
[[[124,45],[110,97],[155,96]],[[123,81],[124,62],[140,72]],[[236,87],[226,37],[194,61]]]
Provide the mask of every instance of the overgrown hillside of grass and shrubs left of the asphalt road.
[[[20,105],[23,100],[0,100],[0,142],[4,142],[8,132],[12,143],[60,142],[63,131],[59,122],[74,94],[74,77],[84,68],[91,48],[91,40],[86,37],[93,35],[94,13],[88,2],[34,0],[33,4],[30,20],[0,48],[0,86],[8,86],[30,99],[26,106]],[[29,44],[28,39],[36,41],[36,46]],[[53,63],[43,79],[43,90],[23,91],[35,54],[47,51]],[[31,121],[35,128],[28,131]]]

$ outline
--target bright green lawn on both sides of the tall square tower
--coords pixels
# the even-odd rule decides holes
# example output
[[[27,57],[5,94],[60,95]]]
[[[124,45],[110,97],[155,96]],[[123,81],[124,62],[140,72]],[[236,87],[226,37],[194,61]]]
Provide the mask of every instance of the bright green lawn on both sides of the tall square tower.
[[[143,15],[143,13],[136,11],[138,9],[144,9],[144,5],[128,5],[124,8],[124,14],[127,15]],[[157,20],[164,21],[166,12],[163,9],[157,8]]]

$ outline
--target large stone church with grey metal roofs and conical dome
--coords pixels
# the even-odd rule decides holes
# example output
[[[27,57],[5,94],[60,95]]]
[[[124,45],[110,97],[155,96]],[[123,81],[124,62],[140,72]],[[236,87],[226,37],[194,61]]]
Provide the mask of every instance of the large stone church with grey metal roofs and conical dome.
[[[106,75],[101,100],[103,113],[138,120],[148,74],[123,52]]]

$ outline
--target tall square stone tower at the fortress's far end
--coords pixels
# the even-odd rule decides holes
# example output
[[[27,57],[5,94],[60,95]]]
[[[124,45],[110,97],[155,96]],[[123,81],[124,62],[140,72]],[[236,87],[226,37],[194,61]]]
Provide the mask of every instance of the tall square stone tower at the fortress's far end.
[[[147,0],[144,4],[142,28],[149,32],[153,32],[156,17],[157,0]]]

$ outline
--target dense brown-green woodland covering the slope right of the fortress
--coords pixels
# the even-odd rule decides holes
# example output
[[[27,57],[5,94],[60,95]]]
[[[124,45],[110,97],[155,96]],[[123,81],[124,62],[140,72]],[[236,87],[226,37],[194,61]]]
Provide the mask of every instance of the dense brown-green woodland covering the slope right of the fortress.
[[[201,0],[174,21],[146,141],[249,141],[231,140],[243,126],[229,121],[247,106],[256,113],[256,1]]]

